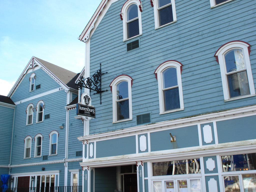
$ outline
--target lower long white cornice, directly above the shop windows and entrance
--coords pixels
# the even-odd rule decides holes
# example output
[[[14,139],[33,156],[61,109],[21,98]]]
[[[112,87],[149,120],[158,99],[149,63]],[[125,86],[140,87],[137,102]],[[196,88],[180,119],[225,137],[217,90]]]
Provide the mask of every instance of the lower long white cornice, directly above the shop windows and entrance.
[[[117,165],[127,165],[134,164],[136,161],[143,162],[157,162],[157,161],[174,161],[182,160],[186,158],[199,158],[201,156],[212,156],[212,155],[232,155],[232,154],[241,154],[241,153],[253,153],[256,148],[256,140],[248,140],[242,142],[231,142],[218,144],[219,148],[214,146],[206,146],[204,148],[198,147],[189,147],[185,149],[177,150],[165,150],[158,152],[151,152],[145,154],[139,154],[140,156],[134,155],[123,155],[114,157],[103,157],[92,159],[91,161],[80,163],[81,166],[89,167],[103,167],[103,166],[117,166]]]

